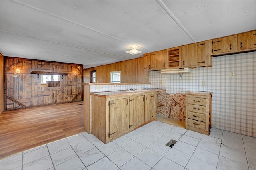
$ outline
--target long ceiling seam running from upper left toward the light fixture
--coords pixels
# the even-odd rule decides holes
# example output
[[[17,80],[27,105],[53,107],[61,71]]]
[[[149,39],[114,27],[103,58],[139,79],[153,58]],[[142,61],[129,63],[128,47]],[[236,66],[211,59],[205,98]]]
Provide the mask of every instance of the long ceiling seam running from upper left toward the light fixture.
[[[50,12],[47,12],[47,11],[41,10],[41,9],[36,8],[36,7],[34,7],[34,6],[30,6],[30,5],[28,5],[28,4],[24,4],[24,3],[22,3],[22,2],[18,2],[17,0],[13,0],[13,2],[16,2],[16,3],[18,3],[18,4],[21,4],[21,5],[23,5],[23,6],[27,6],[27,7],[29,7],[29,8],[34,9],[34,10],[38,10],[39,12],[42,12],[42,13],[44,13],[44,14],[48,14],[48,15],[50,15],[50,16],[53,16],[53,17],[59,18],[59,19],[61,19],[61,20],[64,20],[64,21],[70,22],[70,23],[75,24],[75,25],[78,25],[78,26],[81,26],[81,27],[83,27],[83,28],[87,28],[87,29],[89,29],[89,30],[92,30],[92,31],[97,32],[97,33],[99,33],[99,34],[102,34],[102,35],[108,36],[108,37],[110,37],[110,38],[114,38],[114,39],[119,40],[119,41],[121,41],[121,42],[128,43],[128,44],[132,44],[132,45],[134,45],[134,46],[136,46],[136,47],[140,47],[140,46],[135,45],[135,44],[133,44],[133,43],[126,42],[126,41],[121,40],[121,39],[119,39],[119,38],[116,38],[116,37],[114,37],[114,36],[110,36],[110,35],[108,35],[108,34],[106,34],[106,33],[104,33],[104,32],[100,32],[100,31],[98,31],[98,30],[95,30],[95,29],[93,29],[93,28],[90,28],[90,27],[84,26],[84,25],[79,24],[79,23],[77,23],[77,22],[73,22],[73,21],[68,20],[68,19],[66,19],[66,18],[62,18],[62,17],[60,17],[60,16],[57,16],[57,15],[55,15],[55,14],[53,14],[53,13],[50,13]],[[140,47],[140,48],[145,49],[145,50],[148,50],[148,49],[143,48],[143,47]],[[150,51],[150,50],[148,50],[148,51]]]

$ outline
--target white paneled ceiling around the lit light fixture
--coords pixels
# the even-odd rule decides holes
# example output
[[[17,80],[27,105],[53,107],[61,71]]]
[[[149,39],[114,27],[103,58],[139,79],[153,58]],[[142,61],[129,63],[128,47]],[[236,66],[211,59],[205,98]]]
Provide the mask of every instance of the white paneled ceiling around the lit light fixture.
[[[256,29],[256,0],[0,1],[4,56],[83,64]],[[140,54],[130,55],[136,47]]]

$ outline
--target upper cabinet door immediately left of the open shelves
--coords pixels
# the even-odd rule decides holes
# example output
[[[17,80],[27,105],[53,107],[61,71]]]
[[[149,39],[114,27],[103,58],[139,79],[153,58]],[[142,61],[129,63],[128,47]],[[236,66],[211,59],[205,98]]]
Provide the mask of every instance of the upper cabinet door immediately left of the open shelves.
[[[166,50],[151,53],[151,69],[166,68]]]

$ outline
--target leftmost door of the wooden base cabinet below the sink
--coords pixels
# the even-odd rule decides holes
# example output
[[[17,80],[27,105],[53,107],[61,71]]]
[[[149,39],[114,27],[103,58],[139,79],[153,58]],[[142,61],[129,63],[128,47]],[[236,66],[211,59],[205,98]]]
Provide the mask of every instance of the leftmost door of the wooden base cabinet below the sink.
[[[130,124],[129,98],[109,101],[109,137],[112,138],[126,130]]]

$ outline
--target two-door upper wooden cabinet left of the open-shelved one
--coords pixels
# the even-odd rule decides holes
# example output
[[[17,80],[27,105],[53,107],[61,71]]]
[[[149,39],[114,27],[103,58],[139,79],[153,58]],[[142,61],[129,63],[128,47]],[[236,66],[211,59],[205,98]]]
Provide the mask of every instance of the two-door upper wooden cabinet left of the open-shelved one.
[[[144,54],[144,71],[166,68],[166,50]]]

